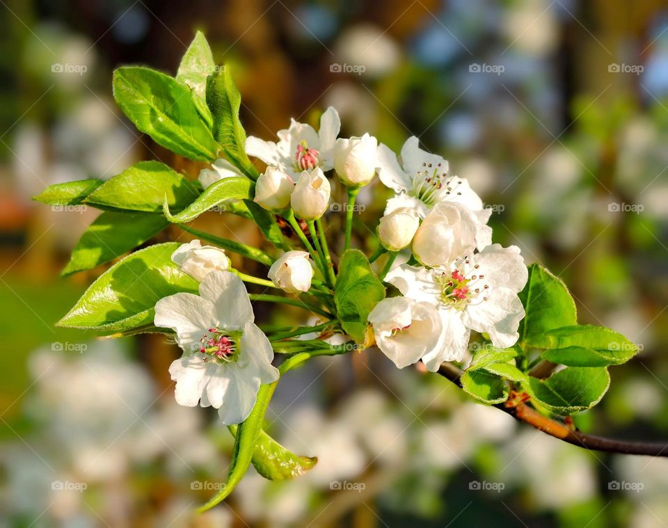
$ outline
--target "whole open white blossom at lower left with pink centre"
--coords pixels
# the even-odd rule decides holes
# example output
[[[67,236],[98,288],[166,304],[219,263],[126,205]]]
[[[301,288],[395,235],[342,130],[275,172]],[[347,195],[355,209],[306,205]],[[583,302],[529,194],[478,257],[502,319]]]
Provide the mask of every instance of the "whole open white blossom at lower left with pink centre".
[[[248,417],[260,384],[278,379],[269,339],[253,321],[244,282],[229,271],[206,275],[199,295],[180,292],[157,302],[155,326],[174,330],[183,349],[169,367],[177,403],[213,406],[225,425]]]

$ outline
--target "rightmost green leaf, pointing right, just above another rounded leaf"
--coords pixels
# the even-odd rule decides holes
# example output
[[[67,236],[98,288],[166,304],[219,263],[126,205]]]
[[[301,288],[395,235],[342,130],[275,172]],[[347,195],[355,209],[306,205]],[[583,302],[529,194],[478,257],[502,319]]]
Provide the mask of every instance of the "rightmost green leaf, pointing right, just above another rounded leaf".
[[[575,325],[555,328],[527,339],[539,349],[550,349],[543,358],[572,367],[621,365],[633,358],[638,347],[610,328]]]

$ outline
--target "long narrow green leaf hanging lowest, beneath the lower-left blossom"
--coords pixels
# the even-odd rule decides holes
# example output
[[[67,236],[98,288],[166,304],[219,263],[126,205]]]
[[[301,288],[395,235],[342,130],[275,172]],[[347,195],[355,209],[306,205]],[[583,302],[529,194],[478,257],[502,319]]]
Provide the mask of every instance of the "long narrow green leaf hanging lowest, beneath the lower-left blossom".
[[[225,500],[225,497],[228,497],[232,493],[232,490],[237,487],[237,484],[244,477],[246,471],[248,471],[250,462],[253,460],[253,454],[255,453],[257,438],[262,431],[264,415],[267,414],[269,401],[271,400],[273,391],[276,390],[277,384],[278,382],[274,381],[268,385],[260,385],[260,391],[257,392],[257,401],[255,401],[253,410],[250,411],[248,418],[237,427],[237,435],[234,438],[234,449],[232,451],[232,462],[230,463],[230,470],[228,472],[228,481],[225,482],[221,490],[207,504],[198,508],[197,511],[199,513],[207,511]]]

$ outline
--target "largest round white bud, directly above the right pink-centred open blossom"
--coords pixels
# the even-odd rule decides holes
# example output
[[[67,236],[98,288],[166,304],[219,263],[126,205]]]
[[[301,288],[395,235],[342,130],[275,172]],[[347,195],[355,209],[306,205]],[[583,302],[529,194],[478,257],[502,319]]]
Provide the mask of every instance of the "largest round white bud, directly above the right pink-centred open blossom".
[[[475,217],[465,205],[441,202],[413,237],[413,255],[425,266],[447,266],[475,248]]]

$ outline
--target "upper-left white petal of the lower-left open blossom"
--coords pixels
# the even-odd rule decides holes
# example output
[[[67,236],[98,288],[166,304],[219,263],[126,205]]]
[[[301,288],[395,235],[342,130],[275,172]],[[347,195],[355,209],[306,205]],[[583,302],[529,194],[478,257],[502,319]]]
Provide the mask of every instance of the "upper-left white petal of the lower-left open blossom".
[[[207,328],[216,325],[214,305],[200,296],[181,291],[156,303],[153,323],[159,328],[174,330],[179,346],[191,352]]]

